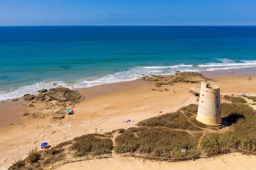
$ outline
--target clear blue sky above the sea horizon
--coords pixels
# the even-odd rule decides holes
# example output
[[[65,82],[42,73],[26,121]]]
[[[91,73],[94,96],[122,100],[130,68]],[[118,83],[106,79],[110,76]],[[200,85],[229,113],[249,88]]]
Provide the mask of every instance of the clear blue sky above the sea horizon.
[[[256,0],[0,0],[8,25],[256,25]]]

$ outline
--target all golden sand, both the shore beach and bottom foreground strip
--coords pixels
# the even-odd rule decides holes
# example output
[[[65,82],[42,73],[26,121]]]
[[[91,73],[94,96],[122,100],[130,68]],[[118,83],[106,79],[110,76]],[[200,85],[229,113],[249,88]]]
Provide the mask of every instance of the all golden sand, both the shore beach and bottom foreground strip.
[[[244,92],[256,96],[256,76],[252,74],[256,71],[243,68],[235,70],[234,74],[231,74],[229,70],[220,72],[206,71],[203,74],[216,80],[215,83],[220,86],[222,95],[241,95]],[[250,81],[246,79],[249,76],[252,79]],[[51,120],[48,116],[46,118],[31,116],[35,111],[45,111],[40,103],[35,103],[35,107],[28,107],[29,102],[23,99],[1,101],[0,169],[7,169],[15,160],[25,158],[28,150],[39,148],[41,142],[48,142],[49,145],[54,146],[83,134],[103,134],[114,129],[127,129],[143,119],[176,111],[190,103],[197,103],[197,97],[190,94],[189,88],[200,87],[200,84],[176,83],[174,86],[164,85],[161,87],[161,89],[168,88],[169,91],[152,91],[154,87],[153,84],[146,81],[136,80],[79,89],[79,92],[85,96],[85,100],[75,105],[74,115],[66,115],[64,119],[56,121]],[[173,89],[176,92],[172,92]],[[24,113],[30,115],[23,116]],[[132,122],[124,123],[126,119],[130,119]],[[211,162],[211,166],[207,166],[209,162]],[[134,167],[132,167],[133,165]],[[218,158],[180,163],[160,163],[117,156],[109,160],[66,164],[60,169],[69,169],[70,167],[75,167],[75,169],[79,169],[79,167],[81,169],[189,169],[192,167],[195,169],[254,169],[256,166],[255,156],[233,153]]]

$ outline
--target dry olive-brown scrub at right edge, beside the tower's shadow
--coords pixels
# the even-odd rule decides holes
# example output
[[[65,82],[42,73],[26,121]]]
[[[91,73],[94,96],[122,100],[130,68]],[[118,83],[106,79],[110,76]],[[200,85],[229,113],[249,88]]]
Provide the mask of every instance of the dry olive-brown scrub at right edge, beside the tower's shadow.
[[[256,111],[245,104],[223,103],[221,110],[233,131],[224,134],[207,134],[200,142],[206,155],[226,153],[228,150],[256,151]]]

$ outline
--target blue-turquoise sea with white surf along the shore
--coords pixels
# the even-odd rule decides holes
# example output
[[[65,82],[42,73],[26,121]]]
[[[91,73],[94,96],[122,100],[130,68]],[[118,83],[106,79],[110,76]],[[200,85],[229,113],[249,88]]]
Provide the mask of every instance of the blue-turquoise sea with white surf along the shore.
[[[2,26],[0,100],[43,88],[256,66],[256,26]]]

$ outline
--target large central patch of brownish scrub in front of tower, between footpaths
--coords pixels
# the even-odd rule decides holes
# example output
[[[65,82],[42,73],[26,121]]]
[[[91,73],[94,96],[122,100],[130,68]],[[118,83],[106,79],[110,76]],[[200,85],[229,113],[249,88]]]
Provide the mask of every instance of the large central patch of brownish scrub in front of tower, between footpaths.
[[[184,131],[139,127],[137,131],[127,129],[116,137],[116,153],[144,153],[150,156],[179,157],[200,155],[197,150],[197,137]],[[186,149],[186,153],[181,153]]]

